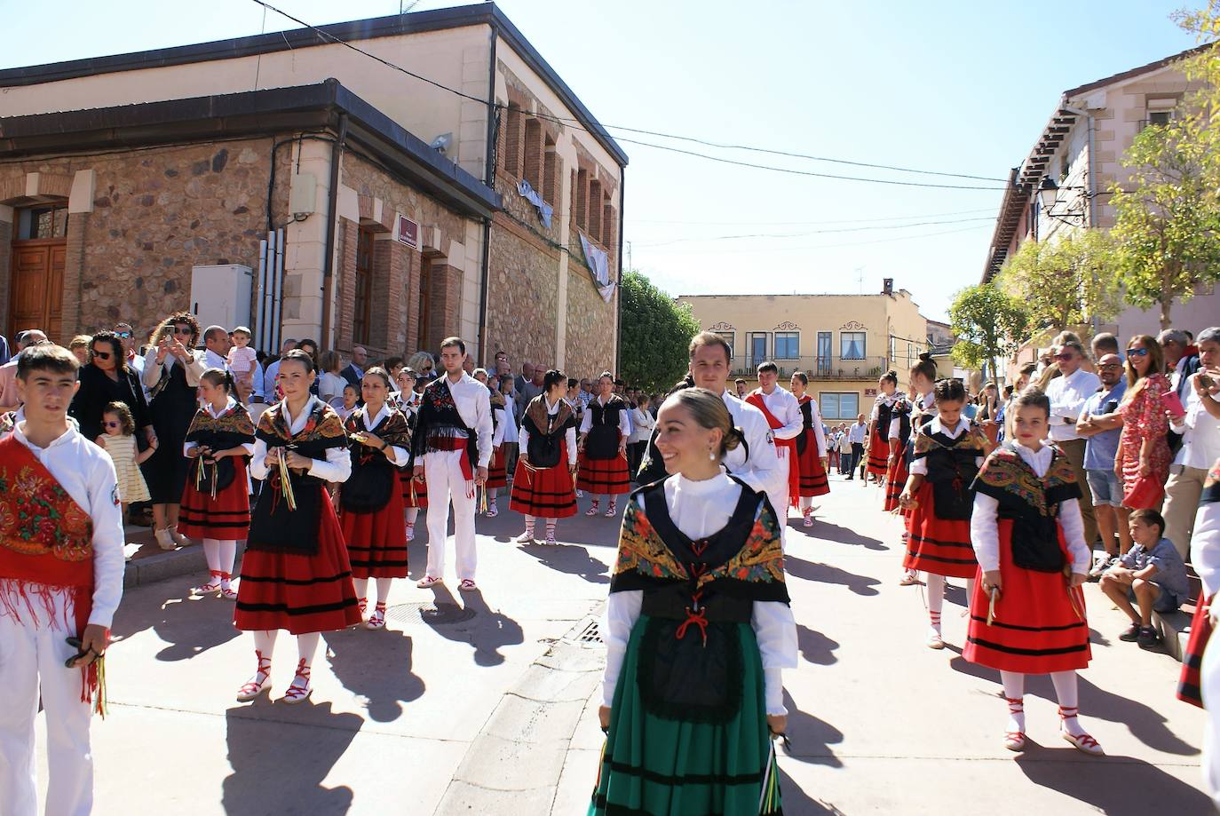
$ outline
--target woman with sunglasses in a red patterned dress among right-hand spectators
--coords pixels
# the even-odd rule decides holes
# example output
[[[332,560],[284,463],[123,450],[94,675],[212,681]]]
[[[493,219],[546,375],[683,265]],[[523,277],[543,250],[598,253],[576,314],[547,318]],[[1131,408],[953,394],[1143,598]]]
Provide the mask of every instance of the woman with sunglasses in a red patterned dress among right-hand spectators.
[[[1169,417],[1165,398],[1174,393],[1165,371],[1165,353],[1157,338],[1137,334],[1127,343],[1127,393],[1119,404],[1122,415],[1122,435],[1119,437],[1119,455],[1114,461],[1114,473],[1122,483],[1122,506],[1131,510],[1160,503],[1160,490],[1169,478]],[[1155,495],[1132,500],[1136,483],[1150,479]],[[1138,505],[1138,506],[1132,506]]]

